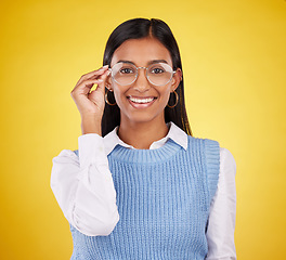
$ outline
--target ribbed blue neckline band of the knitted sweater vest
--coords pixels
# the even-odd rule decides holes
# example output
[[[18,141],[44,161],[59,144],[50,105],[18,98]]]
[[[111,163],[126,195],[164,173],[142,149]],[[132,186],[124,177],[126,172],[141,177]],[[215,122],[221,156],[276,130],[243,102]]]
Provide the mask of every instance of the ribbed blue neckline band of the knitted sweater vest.
[[[162,162],[176,155],[182,146],[169,139],[161,147],[155,150],[128,148],[117,144],[109,158],[122,162],[156,164]]]

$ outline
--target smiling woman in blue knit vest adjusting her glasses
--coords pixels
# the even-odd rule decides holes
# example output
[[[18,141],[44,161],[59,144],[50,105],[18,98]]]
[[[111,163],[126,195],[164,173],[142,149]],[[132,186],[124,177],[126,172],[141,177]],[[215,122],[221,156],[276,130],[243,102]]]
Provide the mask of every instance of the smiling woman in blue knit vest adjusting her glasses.
[[[53,158],[72,259],[236,259],[235,161],[218,142],[192,136],[168,25],[122,23],[103,64],[72,91],[79,150]]]

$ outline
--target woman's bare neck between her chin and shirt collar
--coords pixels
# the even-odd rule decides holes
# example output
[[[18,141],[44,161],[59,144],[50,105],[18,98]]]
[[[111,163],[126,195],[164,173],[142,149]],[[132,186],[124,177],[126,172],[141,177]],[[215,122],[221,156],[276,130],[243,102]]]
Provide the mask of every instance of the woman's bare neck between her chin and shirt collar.
[[[168,134],[165,119],[147,122],[130,122],[121,120],[118,136],[134,148],[148,150],[151,144]]]

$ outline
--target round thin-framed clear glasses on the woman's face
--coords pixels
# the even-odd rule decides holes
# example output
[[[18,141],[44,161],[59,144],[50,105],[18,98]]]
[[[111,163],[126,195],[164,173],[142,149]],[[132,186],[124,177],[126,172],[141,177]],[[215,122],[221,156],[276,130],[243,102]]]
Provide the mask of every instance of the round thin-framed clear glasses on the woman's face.
[[[172,67],[166,63],[154,63],[148,67],[136,67],[132,63],[120,62],[115,64],[109,72],[113,79],[121,86],[133,83],[138,78],[139,68],[144,68],[147,80],[155,86],[167,84],[176,73]]]

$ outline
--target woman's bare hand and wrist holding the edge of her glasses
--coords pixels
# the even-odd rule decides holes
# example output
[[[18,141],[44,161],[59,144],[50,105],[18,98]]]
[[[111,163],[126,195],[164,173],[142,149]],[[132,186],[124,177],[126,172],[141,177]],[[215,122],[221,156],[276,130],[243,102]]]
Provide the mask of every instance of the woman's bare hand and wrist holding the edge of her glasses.
[[[101,120],[105,106],[105,81],[108,65],[82,75],[70,92],[81,116],[82,134],[98,133],[101,135]],[[91,88],[98,84],[95,90]]]

